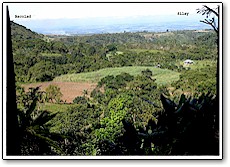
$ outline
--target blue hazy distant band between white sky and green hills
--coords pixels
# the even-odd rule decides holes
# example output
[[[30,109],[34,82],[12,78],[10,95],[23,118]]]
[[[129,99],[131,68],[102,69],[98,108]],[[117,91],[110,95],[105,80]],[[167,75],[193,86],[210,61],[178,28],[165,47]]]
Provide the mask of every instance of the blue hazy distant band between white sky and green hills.
[[[12,19],[11,19],[12,20]],[[175,30],[201,30],[210,27],[200,22],[200,17],[176,19],[172,16],[85,18],[85,19],[44,19],[14,22],[41,34],[74,35],[119,32],[162,32]]]

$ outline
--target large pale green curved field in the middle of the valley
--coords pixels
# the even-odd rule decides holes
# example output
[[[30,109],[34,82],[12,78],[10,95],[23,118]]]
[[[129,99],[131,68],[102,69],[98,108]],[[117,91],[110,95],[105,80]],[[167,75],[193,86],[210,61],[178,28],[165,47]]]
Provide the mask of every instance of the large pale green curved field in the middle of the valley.
[[[174,72],[167,69],[160,69],[156,67],[147,66],[129,66],[129,67],[116,67],[116,68],[105,68],[98,71],[79,73],[79,74],[66,74],[56,77],[54,81],[61,82],[93,82],[97,83],[100,79],[107,75],[118,75],[121,73],[129,73],[130,75],[139,75],[141,71],[149,69],[153,72],[153,78],[156,79],[156,83],[159,85],[170,84],[172,81],[179,79],[180,73]]]

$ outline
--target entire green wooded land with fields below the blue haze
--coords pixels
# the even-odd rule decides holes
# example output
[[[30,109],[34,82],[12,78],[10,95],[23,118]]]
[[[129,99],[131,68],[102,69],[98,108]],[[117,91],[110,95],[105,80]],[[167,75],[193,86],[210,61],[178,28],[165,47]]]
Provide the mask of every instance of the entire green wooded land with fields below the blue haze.
[[[22,155],[219,154],[214,31],[11,36]]]

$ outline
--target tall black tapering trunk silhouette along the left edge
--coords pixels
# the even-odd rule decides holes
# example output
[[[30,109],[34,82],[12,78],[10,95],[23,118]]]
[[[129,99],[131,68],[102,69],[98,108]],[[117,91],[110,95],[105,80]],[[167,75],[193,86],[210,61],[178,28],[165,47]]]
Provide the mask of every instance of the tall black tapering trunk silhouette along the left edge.
[[[20,154],[20,140],[19,140],[19,127],[18,115],[16,104],[16,89],[15,89],[15,73],[14,61],[12,54],[12,41],[11,41],[11,27],[9,9],[6,6],[6,20],[7,20],[7,93],[6,93],[6,154],[19,155]]]

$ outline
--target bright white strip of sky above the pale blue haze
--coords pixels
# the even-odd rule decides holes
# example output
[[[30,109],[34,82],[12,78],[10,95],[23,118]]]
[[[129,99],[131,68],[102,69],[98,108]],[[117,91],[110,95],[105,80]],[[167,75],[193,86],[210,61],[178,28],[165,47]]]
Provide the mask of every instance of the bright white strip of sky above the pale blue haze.
[[[206,3],[210,7],[217,4]],[[202,3],[10,3],[11,20],[15,15],[31,15],[31,20],[60,18],[130,17],[195,14]],[[23,19],[24,21],[29,19]]]

